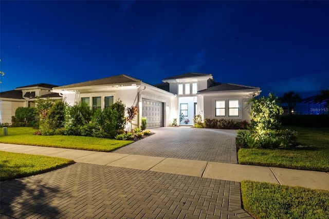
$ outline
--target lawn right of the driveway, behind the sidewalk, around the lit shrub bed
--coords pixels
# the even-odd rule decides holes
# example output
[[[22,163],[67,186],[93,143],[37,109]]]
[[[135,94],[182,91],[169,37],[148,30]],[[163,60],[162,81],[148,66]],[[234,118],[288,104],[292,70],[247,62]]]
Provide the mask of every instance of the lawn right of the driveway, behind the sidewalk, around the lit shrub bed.
[[[237,152],[239,164],[329,172],[329,128],[284,128],[298,131],[298,147],[242,148]]]

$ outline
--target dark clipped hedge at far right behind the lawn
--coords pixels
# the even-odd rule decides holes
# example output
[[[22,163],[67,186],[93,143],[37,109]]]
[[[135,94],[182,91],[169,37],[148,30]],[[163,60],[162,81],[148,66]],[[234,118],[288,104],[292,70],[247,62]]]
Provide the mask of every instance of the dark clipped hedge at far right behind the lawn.
[[[329,115],[284,115],[283,126],[329,127]]]

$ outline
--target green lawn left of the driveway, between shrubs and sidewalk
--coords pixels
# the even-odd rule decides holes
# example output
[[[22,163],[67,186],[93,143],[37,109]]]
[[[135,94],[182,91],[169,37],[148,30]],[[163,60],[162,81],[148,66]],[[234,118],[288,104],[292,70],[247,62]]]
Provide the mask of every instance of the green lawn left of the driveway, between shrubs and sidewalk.
[[[9,127],[6,136],[1,130],[0,143],[109,152],[134,142],[85,136],[33,135],[35,131],[30,127]]]

